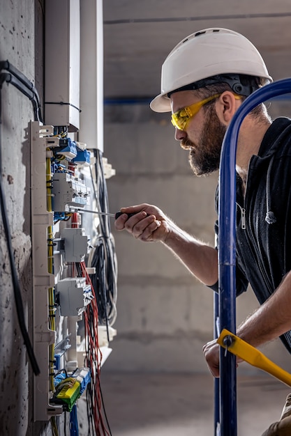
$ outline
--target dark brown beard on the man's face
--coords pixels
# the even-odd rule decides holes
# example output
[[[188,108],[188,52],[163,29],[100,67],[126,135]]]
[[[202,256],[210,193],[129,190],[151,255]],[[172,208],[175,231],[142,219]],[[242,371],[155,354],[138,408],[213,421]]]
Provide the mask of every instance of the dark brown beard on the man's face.
[[[218,170],[221,146],[226,126],[221,123],[214,107],[206,111],[205,122],[198,143],[185,139],[181,147],[189,151],[189,164],[195,176],[204,176]]]

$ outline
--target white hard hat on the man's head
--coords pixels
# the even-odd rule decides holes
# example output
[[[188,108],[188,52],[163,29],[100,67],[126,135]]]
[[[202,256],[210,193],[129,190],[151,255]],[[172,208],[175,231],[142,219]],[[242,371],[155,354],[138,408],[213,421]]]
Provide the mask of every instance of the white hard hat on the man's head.
[[[169,112],[168,93],[217,75],[260,77],[264,84],[272,81],[262,56],[247,38],[229,29],[204,29],[181,40],[167,56],[162,66],[161,94],[150,107],[156,112]]]

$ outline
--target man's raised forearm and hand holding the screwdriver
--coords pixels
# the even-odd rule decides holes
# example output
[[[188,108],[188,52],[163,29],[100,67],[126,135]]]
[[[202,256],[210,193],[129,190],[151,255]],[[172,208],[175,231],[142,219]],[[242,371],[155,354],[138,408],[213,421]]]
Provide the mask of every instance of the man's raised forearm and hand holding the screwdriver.
[[[212,286],[218,280],[217,251],[182,231],[154,205],[122,208],[115,221],[118,231],[126,230],[144,242],[162,242],[202,283]],[[126,214],[134,213],[128,218]]]

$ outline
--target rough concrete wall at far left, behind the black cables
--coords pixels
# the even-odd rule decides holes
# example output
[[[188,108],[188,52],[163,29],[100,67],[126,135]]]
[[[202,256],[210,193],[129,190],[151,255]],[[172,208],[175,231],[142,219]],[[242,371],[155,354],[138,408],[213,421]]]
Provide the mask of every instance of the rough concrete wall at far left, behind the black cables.
[[[0,2],[0,60],[8,59],[43,92],[43,2]],[[31,335],[30,146],[31,102],[12,85],[1,91],[1,178],[11,242]],[[32,421],[32,373],[17,322],[6,238],[0,220],[0,435],[49,435],[47,423]]]

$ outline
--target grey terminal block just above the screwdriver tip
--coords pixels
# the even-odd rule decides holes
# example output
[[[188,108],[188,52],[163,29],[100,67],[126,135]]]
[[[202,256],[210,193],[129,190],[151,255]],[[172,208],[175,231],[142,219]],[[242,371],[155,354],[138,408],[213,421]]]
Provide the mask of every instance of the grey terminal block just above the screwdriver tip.
[[[90,188],[84,180],[66,171],[52,176],[52,208],[55,212],[73,212],[90,202]]]

